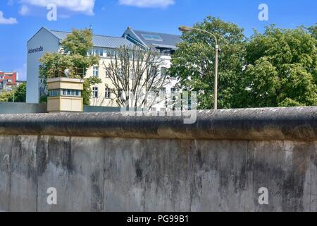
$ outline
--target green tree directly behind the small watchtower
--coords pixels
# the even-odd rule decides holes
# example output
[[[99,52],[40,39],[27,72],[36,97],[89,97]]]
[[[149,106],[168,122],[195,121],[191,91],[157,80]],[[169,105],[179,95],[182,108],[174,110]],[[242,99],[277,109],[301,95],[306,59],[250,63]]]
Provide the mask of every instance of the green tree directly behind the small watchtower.
[[[54,77],[61,69],[70,69],[73,73],[70,76],[76,76],[76,71],[84,73],[91,66],[99,65],[99,57],[88,55],[93,48],[91,30],[73,30],[61,43],[61,50],[58,53],[46,53],[39,59],[40,78]],[[86,78],[83,91],[84,105],[89,105],[91,97],[91,85],[101,83],[99,78]],[[45,85],[45,84],[44,84]],[[41,100],[45,100],[41,97]]]

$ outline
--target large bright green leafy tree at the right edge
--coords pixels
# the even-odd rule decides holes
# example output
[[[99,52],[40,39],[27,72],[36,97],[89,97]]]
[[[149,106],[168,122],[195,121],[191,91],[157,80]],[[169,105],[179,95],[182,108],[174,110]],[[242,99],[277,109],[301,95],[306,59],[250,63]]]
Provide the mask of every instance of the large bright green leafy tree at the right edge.
[[[274,25],[247,44],[243,107],[317,105],[317,40],[304,27]]]

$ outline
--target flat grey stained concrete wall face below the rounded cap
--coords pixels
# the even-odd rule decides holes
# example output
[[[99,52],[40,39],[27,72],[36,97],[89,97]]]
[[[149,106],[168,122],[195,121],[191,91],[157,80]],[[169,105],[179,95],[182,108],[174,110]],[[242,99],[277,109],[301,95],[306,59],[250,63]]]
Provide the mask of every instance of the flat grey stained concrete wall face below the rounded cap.
[[[1,211],[316,211],[317,142],[0,136]],[[46,203],[55,187],[58,204]],[[259,205],[259,188],[268,205]]]

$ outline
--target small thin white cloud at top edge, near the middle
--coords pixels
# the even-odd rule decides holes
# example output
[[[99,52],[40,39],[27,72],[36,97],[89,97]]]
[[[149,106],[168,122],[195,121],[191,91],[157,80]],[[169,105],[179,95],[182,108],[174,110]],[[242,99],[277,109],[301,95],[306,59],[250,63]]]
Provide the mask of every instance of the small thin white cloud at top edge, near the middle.
[[[175,4],[175,0],[119,0],[119,4],[142,8],[166,8]]]

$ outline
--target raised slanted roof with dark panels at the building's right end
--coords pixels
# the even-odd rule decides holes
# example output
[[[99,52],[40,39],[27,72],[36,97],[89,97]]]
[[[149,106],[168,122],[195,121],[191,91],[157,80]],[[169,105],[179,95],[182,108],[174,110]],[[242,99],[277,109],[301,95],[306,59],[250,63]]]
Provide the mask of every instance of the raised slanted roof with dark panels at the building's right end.
[[[130,28],[132,30],[132,28]],[[149,31],[142,31],[142,30],[132,30],[134,34],[137,36],[137,39],[141,42],[147,44],[147,46],[154,45],[156,47],[171,47],[172,49],[176,48],[176,44],[182,42],[180,39],[180,35],[171,35],[166,33],[159,33],[159,32],[149,32]],[[161,37],[161,40],[147,40],[144,38],[144,35],[158,35]]]

